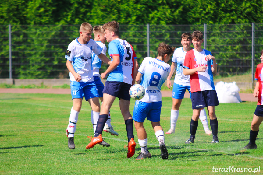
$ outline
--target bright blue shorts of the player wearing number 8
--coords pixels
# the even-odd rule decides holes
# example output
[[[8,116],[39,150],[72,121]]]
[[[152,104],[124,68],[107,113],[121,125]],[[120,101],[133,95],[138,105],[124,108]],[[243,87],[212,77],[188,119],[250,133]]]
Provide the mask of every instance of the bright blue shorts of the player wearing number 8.
[[[149,121],[158,122],[161,116],[162,101],[158,102],[141,102],[136,101],[133,109],[133,120],[144,122],[145,118]]]

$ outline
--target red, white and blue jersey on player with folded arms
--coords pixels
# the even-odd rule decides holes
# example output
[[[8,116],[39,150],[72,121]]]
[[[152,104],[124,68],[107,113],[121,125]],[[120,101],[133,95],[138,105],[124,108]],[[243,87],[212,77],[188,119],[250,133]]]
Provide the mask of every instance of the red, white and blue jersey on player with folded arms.
[[[190,75],[191,92],[215,90],[214,78],[212,72],[213,60],[207,61],[205,56],[212,55],[210,51],[204,50],[198,52],[190,50],[186,53],[183,68],[194,69],[205,65],[205,72],[195,72]]]

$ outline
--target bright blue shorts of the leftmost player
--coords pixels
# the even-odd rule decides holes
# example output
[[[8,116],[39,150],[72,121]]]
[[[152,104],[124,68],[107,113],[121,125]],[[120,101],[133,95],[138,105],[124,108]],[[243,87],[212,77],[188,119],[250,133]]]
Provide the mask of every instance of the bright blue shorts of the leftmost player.
[[[88,101],[90,98],[99,97],[95,82],[70,82],[71,96],[74,98],[83,98]]]

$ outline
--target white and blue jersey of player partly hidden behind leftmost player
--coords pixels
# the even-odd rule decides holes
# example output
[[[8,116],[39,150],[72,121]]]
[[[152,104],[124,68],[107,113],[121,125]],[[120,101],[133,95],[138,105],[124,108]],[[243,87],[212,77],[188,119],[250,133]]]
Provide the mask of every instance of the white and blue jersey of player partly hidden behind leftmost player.
[[[107,47],[105,44],[103,44],[101,41],[95,41],[101,48],[102,48],[102,53],[106,53]],[[105,54],[106,55],[106,54]],[[92,52],[92,67],[93,67],[93,76],[98,76],[100,77],[101,75],[99,74],[99,69],[101,68],[102,61],[101,59],[98,58],[98,56]]]

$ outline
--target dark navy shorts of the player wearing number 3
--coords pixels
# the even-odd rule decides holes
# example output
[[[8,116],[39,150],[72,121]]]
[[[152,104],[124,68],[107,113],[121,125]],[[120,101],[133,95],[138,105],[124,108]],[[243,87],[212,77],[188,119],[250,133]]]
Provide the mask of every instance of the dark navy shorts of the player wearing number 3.
[[[132,85],[124,82],[106,81],[103,93],[118,97],[119,99],[130,101],[130,87]]]

